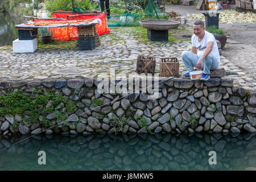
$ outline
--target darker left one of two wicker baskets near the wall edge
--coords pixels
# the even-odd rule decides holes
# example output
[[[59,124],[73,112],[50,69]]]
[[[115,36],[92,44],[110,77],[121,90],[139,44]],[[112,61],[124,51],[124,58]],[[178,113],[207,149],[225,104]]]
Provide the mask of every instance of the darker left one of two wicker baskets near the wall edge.
[[[139,55],[137,58],[137,73],[155,73],[155,57]]]

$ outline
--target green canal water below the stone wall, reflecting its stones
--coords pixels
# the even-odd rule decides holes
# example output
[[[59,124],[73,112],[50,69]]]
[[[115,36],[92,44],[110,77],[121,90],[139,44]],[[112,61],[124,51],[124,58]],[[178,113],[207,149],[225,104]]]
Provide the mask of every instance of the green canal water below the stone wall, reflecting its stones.
[[[0,139],[0,170],[255,170],[256,136],[89,135]],[[217,165],[208,163],[217,152]],[[46,152],[46,165],[38,152]]]

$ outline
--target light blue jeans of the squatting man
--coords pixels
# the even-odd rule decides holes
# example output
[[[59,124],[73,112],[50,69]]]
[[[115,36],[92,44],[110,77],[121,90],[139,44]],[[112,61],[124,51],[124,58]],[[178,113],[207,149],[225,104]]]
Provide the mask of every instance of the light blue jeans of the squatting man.
[[[188,72],[194,71],[193,66],[196,67],[197,61],[199,60],[199,56],[197,56],[195,53],[192,53],[190,51],[184,51],[181,54],[181,58],[183,60],[183,63],[185,64],[185,67],[187,68]],[[210,70],[217,69],[218,68],[218,60],[216,57],[212,55],[212,53],[209,53],[207,57],[203,60],[203,73],[204,74],[210,74]]]

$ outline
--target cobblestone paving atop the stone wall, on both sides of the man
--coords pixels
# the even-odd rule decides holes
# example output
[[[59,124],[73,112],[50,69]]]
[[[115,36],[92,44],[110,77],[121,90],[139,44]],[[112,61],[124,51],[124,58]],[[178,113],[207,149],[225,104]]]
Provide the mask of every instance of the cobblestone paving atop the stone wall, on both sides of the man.
[[[184,40],[171,42],[150,42],[142,28],[111,28],[112,32],[101,36],[101,46],[91,51],[79,51],[72,46],[40,46],[34,53],[13,53],[11,47],[0,47],[0,80],[34,80],[57,77],[91,77],[100,73],[132,73],[136,71],[138,55],[156,57],[156,73],[159,73],[160,57],[177,57],[180,61],[180,73],[185,72],[181,53],[191,49],[191,43]],[[225,57],[221,56],[220,66],[240,75],[229,75],[234,84],[247,89],[256,88],[255,82],[245,77]],[[74,71],[75,70],[75,71]],[[63,73],[60,73],[63,72]]]

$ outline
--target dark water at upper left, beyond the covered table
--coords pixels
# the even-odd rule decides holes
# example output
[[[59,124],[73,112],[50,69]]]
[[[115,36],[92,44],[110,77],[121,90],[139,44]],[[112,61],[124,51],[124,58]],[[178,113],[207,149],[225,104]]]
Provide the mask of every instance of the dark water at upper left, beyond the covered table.
[[[14,30],[14,21],[6,14],[0,13],[0,47],[11,46],[18,39],[18,31]]]

